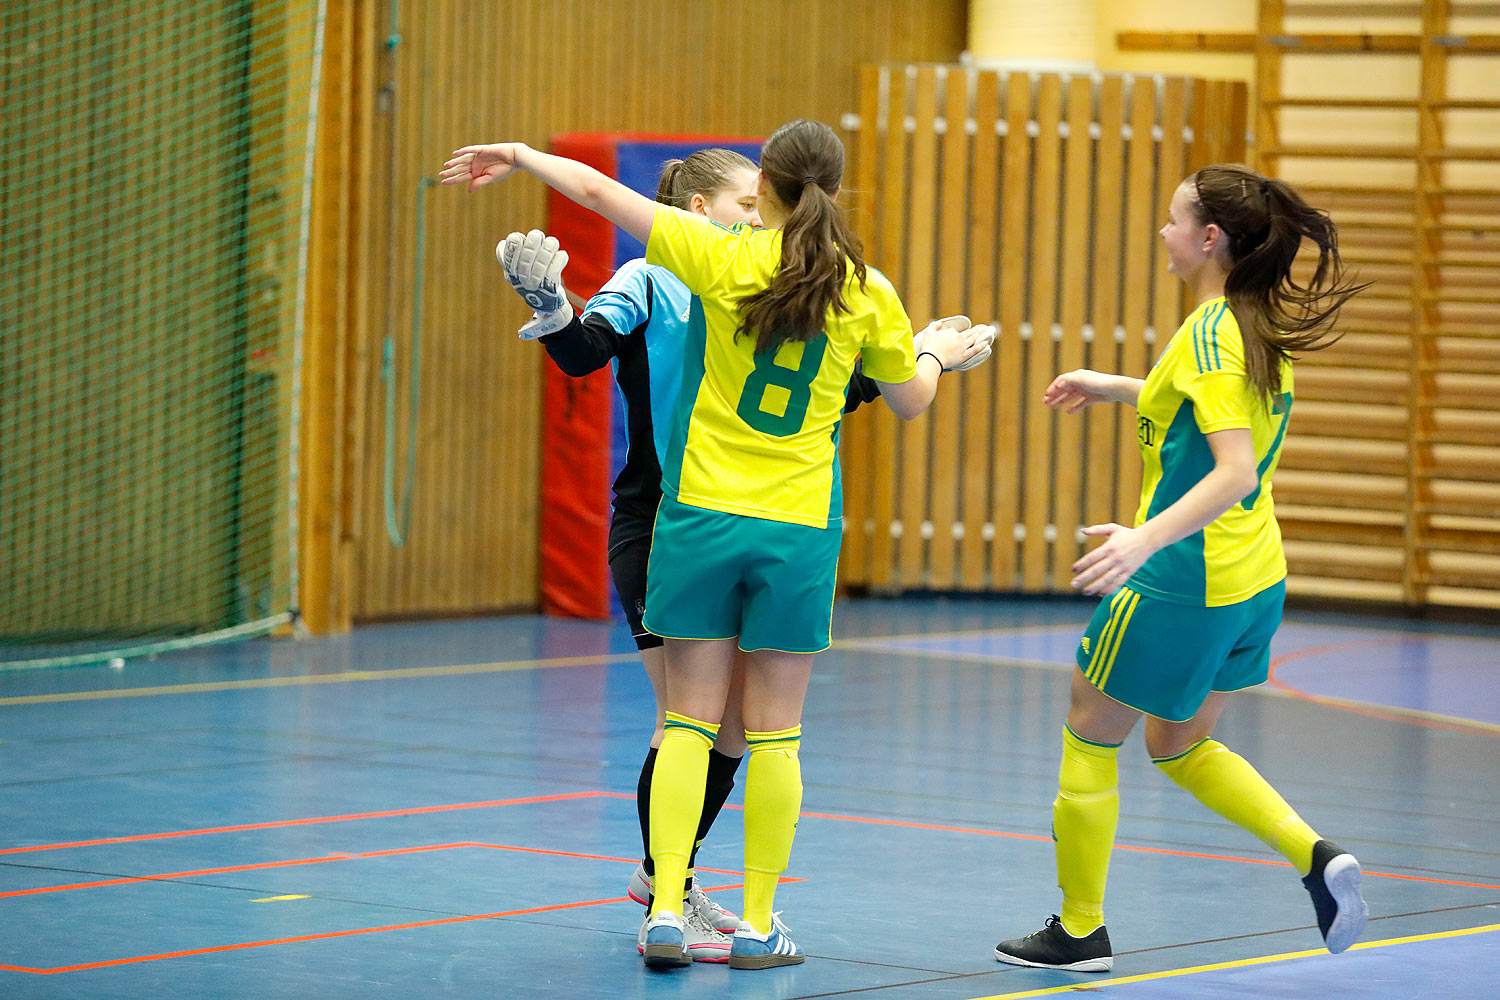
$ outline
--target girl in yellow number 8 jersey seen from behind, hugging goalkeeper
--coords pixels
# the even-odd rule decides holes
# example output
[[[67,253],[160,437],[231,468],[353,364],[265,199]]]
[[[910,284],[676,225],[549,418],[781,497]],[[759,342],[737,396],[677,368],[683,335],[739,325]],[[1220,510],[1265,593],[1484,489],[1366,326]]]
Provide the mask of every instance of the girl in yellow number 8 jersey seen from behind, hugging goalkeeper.
[[[662,462],[645,627],[666,640],[668,712],[651,784],[658,885],[686,877],[704,775],[746,651],[746,894],[732,969],[802,961],[771,910],[801,808],[802,699],[828,648],[842,538],[838,423],[855,363],[900,417],[922,412],[945,369],[984,349],[982,327],[912,346],[891,283],[861,256],[834,198],[843,144],[790,121],[760,151],[760,231],[729,231],[660,205],[584,163],[520,142],[456,150],[444,183],[470,190],[518,169],[646,244],[696,297],[682,384]],[[926,345],[924,345],[926,348]],[[662,882],[664,880],[664,882]],[[657,894],[648,966],[688,964],[682,901]]]

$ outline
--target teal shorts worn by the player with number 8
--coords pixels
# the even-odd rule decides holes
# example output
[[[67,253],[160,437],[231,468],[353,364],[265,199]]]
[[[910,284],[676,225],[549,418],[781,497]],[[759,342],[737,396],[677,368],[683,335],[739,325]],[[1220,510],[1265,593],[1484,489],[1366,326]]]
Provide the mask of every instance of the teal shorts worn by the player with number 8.
[[[840,526],[808,528],[662,498],[646,564],[648,631],[740,648],[828,649]]]

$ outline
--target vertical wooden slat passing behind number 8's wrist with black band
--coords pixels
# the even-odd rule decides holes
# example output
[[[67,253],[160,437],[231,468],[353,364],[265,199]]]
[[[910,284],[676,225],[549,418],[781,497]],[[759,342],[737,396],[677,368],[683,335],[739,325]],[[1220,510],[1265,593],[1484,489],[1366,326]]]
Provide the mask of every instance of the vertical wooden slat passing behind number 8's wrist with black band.
[[[918,327],[933,318],[933,240],[938,231],[938,72],[916,70],[912,114],[912,201],[908,223],[906,312]],[[902,586],[921,586],[926,577],[927,487],[932,481],[932,412],[902,427],[902,537],[897,547]]]

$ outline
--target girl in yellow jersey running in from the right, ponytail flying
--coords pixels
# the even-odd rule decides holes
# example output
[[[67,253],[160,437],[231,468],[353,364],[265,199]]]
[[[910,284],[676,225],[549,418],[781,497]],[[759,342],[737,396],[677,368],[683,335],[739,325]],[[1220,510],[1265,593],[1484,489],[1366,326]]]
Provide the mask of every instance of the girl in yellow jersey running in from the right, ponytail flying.
[[[1106,543],[1074,564],[1100,603],[1078,646],[1053,802],[1062,913],[1000,942],[1017,966],[1107,972],[1104,880],[1119,816],[1116,751],[1146,715],[1146,750],[1200,802],[1281,852],[1304,876],[1330,952],[1366,921],[1359,864],[1326,840],[1242,757],[1215,742],[1230,691],[1263,684],[1281,622],[1287,564],[1270,474],[1292,412],[1292,354],[1332,339],[1362,286],[1342,276],[1328,214],[1280,180],[1206,166],[1172,198],[1161,228],[1168,270],[1196,309],[1142,381],[1070,372],[1044,402],[1137,409],[1144,475],[1136,526],[1095,525]],[[1302,240],[1318,250],[1306,286],[1292,279]]]

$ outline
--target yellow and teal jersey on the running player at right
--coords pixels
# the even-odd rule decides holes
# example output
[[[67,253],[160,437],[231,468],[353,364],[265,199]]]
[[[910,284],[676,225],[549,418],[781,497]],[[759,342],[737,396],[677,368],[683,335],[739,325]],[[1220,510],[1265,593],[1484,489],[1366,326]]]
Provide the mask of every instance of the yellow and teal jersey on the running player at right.
[[[1206,435],[1248,429],[1260,486],[1203,531],[1167,546],[1131,577],[1131,589],[1167,601],[1218,607],[1245,601],[1287,574],[1270,499],[1292,417],[1292,364],[1281,366],[1281,394],[1258,396],[1245,378],[1245,345],[1228,303],[1212,298],[1192,310],[1146,378],[1137,403],[1144,463],[1136,525],[1154,517],[1214,468]]]

